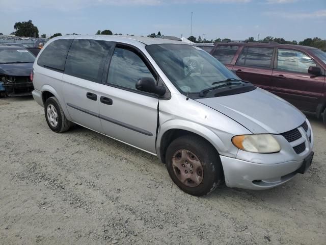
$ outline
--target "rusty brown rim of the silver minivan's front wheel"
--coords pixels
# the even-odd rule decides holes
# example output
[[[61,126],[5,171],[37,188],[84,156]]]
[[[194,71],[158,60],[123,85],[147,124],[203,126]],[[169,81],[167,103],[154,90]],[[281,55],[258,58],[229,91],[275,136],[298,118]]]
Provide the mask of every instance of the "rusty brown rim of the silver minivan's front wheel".
[[[203,180],[203,166],[191,151],[177,151],[172,158],[172,167],[178,180],[188,187],[196,187]]]

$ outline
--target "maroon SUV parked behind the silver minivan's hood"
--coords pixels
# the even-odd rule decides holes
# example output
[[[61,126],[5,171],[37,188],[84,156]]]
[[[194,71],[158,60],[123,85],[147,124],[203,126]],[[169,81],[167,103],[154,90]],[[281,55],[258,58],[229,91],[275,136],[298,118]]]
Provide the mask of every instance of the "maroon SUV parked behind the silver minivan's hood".
[[[241,79],[317,118],[323,115],[326,124],[325,52],[300,45],[228,42],[216,43],[210,54]]]

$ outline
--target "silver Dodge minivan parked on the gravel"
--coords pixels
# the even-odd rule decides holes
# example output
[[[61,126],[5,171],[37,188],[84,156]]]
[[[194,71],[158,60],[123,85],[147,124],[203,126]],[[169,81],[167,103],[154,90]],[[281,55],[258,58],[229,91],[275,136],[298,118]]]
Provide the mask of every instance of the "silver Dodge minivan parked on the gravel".
[[[189,67],[189,60],[198,65]],[[312,162],[314,139],[303,113],[193,45],[133,36],[53,38],[31,79],[52,131],[74,123],[153,154],[189,194],[208,194],[223,181],[275,187]]]

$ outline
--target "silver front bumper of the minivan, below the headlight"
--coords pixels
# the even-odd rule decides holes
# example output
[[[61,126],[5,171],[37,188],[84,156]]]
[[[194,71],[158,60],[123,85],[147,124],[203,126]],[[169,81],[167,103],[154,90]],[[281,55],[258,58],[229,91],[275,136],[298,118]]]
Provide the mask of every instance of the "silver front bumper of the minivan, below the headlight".
[[[304,160],[276,164],[259,164],[221,156],[228,187],[262,190],[281,185],[296,174]]]

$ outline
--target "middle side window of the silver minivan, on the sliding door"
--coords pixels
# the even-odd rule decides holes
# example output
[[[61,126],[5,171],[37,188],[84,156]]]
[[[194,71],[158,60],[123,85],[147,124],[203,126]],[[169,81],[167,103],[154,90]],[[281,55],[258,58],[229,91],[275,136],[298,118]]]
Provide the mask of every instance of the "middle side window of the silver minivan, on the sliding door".
[[[75,39],[68,53],[65,74],[100,83],[110,47],[107,41]]]

